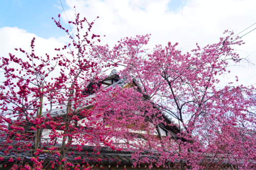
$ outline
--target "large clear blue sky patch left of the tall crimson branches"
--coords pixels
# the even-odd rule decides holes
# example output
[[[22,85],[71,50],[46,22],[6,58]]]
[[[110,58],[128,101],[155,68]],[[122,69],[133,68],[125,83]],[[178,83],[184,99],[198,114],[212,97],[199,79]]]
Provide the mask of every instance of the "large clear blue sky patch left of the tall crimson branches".
[[[57,0],[2,0],[0,28],[18,27],[42,38],[63,36],[65,33],[51,19],[63,12],[60,7]],[[66,3],[63,3],[63,7],[68,9]]]

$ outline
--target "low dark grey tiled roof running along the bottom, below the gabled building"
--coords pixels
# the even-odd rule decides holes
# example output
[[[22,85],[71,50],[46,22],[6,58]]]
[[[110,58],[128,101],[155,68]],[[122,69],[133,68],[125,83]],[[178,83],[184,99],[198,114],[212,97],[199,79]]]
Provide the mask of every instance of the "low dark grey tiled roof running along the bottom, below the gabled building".
[[[58,145],[56,145],[58,147]],[[59,145],[60,147],[60,145]],[[113,151],[109,147],[103,147],[99,151],[100,153],[97,155],[95,153],[95,148],[93,146],[84,146],[82,147],[82,151],[78,152],[76,151],[77,147],[71,147],[68,153],[66,154],[67,161],[69,162],[88,162],[88,163],[124,163],[124,164],[131,164],[136,160],[131,159],[132,152],[123,150],[123,151]],[[74,151],[73,151],[74,150]],[[8,161],[10,157],[13,158],[13,160],[17,160],[17,158],[22,158],[26,162],[31,161],[32,157],[38,156],[39,160],[47,160],[50,156],[49,161],[51,160],[58,160],[60,156],[59,154],[56,154],[52,151],[52,153],[49,153],[48,150],[43,150],[44,152],[40,153],[39,155],[33,155],[33,151],[18,151],[17,149],[14,149],[12,152],[6,154],[4,151],[0,151],[0,157],[4,157],[3,161]],[[144,154],[145,155],[145,154]],[[79,159],[77,159],[80,156]],[[146,155],[145,155],[146,156]]]

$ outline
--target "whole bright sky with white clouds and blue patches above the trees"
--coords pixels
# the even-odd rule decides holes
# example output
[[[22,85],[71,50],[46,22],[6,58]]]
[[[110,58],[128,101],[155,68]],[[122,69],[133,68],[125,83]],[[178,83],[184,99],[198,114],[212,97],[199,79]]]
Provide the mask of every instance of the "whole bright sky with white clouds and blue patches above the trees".
[[[179,42],[186,53],[195,47],[218,42],[224,30],[239,33],[256,22],[255,0],[2,0],[0,7],[0,56],[19,55],[15,47],[29,50],[36,37],[38,55],[54,54],[53,49],[68,42],[65,32],[52,17],[61,14],[63,26],[74,19],[74,6],[89,21],[97,16],[92,32],[105,35],[101,44],[115,44],[121,37],[152,34],[148,47]],[[66,18],[67,16],[67,18]],[[256,24],[240,36],[256,28]],[[235,49],[256,64],[256,30],[243,37],[246,44]],[[255,52],[255,53],[254,53]],[[255,67],[242,63],[230,68],[228,81],[239,76],[239,84],[255,84]]]

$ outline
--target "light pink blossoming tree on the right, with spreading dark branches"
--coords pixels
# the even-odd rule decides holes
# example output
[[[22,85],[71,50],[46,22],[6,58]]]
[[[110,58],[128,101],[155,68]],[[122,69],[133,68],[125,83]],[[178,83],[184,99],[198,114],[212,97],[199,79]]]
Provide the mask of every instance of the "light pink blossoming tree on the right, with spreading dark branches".
[[[218,43],[197,44],[184,54],[178,43],[142,48],[150,35],[122,38],[113,49],[96,46],[95,57],[121,66],[122,80],[140,84],[100,92],[95,108],[111,125],[115,142],[134,151],[134,165],[255,168],[255,87],[218,84],[221,75],[229,74],[228,66],[248,61],[233,50],[243,41],[232,32],[224,34]],[[166,116],[172,121],[166,122]],[[179,133],[175,136],[165,126],[177,126]]]

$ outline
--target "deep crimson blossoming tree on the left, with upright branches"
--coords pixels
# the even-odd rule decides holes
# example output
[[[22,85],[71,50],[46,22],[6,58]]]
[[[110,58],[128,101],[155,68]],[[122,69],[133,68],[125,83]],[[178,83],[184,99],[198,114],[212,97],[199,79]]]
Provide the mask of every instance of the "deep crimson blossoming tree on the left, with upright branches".
[[[68,34],[71,43],[55,48],[56,56],[37,56],[33,38],[31,52],[15,48],[22,53],[20,57],[11,53],[9,57],[1,57],[4,80],[0,85],[0,148],[7,156],[0,159],[9,158],[9,163],[14,164],[13,169],[45,169],[47,166],[66,169],[72,165],[66,158],[70,147],[76,146],[76,150],[80,151],[85,144],[111,146],[105,135],[91,130],[104,128],[100,121],[92,120],[85,126],[78,124],[78,121],[91,116],[91,112],[84,107],[94,100],[88,101],[89,94],[83,91],[90,83],[95,84],[91,92],[98,90],[96,83],[104,77],[104,69],[115,64],[93,58],[94,43],[100,42],[99,35],[90,33],[94,21],[79,19],[78,13],[74,21],[69,21],[75,28],[72,31],[63,28],[60,15],[58,17],[58,21],[52,19]],[[87,30],[84,30],[84,25]],[[56,108],[62,110],[61,114],[52,113]],[[48,130],[48,136],[42,135],[45,130]],[[61,147],[56,147],[58,141]],[[25,154],[8,156],[18,152]],[[26,162],[25,156],[29,153],[33,157]],[[41,153],[48,153],[48,158],[55,153],[60,158],[40,161],[38,156]]]

